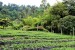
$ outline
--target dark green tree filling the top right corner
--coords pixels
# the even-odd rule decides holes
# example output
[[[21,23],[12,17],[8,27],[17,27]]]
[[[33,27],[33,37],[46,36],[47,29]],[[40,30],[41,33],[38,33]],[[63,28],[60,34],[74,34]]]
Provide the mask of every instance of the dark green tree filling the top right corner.
[[[64,4],[67,6],[70,15],[75,16],[75,0],[63,0]]]

